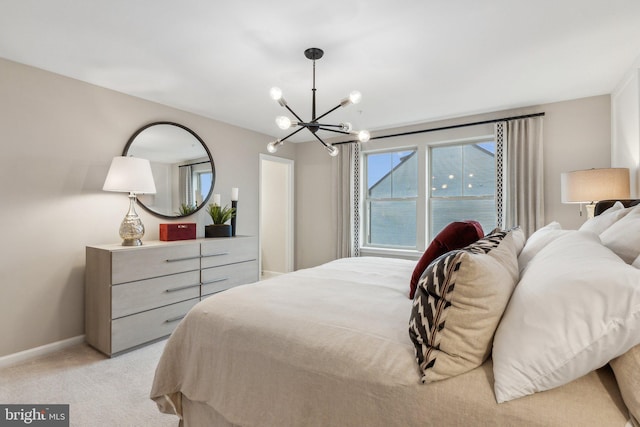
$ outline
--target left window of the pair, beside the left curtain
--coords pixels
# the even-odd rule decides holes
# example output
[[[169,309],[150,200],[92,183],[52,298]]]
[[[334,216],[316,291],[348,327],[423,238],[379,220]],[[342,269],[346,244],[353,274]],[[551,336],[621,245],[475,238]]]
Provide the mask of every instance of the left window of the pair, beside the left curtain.
[[[365,154],[367,246],[416,248],[416,150]]]

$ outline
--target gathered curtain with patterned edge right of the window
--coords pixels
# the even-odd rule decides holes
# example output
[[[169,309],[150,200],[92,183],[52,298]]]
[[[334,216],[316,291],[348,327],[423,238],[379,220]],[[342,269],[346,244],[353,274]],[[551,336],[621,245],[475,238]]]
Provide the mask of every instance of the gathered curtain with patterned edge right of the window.
[[[544,226],[542,117],[496,123],[498,226],[526,236]]]

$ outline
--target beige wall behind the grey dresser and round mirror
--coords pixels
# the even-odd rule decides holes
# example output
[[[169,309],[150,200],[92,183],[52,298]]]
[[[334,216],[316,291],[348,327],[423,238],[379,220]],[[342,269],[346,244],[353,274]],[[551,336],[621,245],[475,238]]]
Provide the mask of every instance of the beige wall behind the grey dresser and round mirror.
[[[84,248],[119,242],[128,206],[102,184],[144,124],[174,121],[200,135],[222,202],[240,189],[238,233],[257,234],[259,154],[272,138],[3,59],[0,76],[0,357],[84,333]],[[138,213],[144,239],[157,239],[167,221]],[[187,220],[200,235],[210,223],[204,212]]]

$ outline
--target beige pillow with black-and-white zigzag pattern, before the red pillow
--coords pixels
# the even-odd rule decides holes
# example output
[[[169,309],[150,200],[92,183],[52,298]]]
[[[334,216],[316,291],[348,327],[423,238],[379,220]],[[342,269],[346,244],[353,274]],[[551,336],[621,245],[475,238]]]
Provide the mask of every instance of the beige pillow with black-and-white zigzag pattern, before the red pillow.
[[[480,366],[518,280],[514,231],[495,230],[434,260],[418,282],[409,322],[422,382]]]

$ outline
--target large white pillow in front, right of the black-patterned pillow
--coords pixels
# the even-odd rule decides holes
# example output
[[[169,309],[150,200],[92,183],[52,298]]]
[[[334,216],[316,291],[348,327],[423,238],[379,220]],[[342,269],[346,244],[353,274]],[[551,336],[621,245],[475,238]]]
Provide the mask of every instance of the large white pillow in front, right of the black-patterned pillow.
[[[531,260],[493,343],[498,403],[549,390],[640,344],[640,270],[577,231]]]

